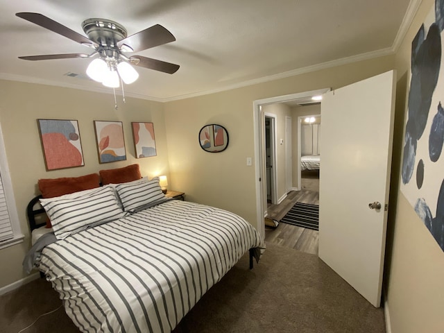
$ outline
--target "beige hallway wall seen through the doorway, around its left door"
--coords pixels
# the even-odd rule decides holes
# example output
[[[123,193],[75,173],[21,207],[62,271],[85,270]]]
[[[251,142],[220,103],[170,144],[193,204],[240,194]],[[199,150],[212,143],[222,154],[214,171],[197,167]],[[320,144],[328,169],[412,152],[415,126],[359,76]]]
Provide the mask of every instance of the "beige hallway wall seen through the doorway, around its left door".
[[[288,105],[278,103],[278,104],[269,104],[264,105],[262,110],[268,114],[275,114],[276,116],[276,144],[275,144],[275,154],[276,154],[276,200],[282,200],[287,195],[286,189],[286,160],[287,155],[286,147],[287,147],[287,139],[285,137],[285,117],[291,117],[291,108]],[[284,140],[282,144],[280,144],[280,140]]]

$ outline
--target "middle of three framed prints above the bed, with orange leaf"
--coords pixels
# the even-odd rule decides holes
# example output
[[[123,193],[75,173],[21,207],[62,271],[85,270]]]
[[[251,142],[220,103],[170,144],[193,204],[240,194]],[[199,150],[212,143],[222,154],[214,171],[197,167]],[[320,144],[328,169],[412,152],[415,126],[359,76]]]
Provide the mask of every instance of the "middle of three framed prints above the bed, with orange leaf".
[[[125,139],[121,121],[94,121],[99,163],[126,160]]]

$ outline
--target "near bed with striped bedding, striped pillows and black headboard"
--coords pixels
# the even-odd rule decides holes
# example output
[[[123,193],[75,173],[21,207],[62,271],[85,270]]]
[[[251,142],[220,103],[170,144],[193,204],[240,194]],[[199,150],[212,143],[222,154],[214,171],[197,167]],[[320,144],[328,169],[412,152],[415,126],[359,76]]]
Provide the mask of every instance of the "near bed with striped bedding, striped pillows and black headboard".
[[[265,247],[240,216],[167,199],[152,180],[33,198],[33,233],[44,212],[53,229],[24,266],[52,283],[81,332],[171,332],[241,256],[252,268]]]

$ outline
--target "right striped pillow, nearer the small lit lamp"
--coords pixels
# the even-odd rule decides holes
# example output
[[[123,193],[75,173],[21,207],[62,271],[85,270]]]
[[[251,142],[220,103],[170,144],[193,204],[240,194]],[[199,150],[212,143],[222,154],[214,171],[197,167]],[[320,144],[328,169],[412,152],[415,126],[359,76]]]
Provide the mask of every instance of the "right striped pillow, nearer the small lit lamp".
[[[125,212],[135,212],[139,207],[165,198],[159,185],[159,178],[136,184],[119,184],[116,185],[116,190]]]

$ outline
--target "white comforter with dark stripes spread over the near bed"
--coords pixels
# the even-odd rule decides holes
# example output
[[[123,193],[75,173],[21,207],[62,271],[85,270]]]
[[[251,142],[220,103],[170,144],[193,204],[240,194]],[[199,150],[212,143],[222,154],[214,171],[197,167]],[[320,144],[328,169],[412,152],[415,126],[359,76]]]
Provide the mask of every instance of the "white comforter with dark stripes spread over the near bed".
[[[171,200],[42,250],[39,269],[82,332],[171,332],[249,248],[236,214]]]

